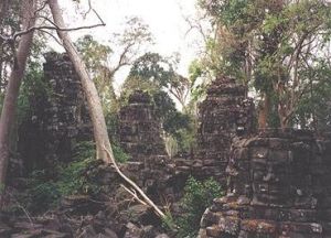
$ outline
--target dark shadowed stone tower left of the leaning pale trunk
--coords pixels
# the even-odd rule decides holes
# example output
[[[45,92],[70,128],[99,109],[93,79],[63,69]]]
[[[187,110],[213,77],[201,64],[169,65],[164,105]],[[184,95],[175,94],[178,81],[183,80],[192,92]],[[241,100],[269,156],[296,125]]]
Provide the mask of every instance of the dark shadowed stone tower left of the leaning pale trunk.
[[[81,82],[68,56],[53,52],[45,60],[45,93],[30,98],[32,115],[19,132],[19,150],[28,170],[71,161],[75,143],[93,136]]]

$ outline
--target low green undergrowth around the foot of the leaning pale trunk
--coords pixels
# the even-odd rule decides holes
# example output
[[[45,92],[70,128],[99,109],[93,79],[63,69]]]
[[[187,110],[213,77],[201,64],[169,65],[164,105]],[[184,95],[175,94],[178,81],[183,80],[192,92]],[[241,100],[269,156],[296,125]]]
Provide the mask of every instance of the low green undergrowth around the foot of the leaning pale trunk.
[[[118,145],[113,145],[115,158],[118,162],[126,162],[129,156]],[[87,172],[97,166],[99,161],[95,159],[95,144],[89,141],[76,144],[73,162],[57,163],[50,178],[47,171],[36,170],[28,178],[28,188],[18,197],[20,204],[24,204],[31,213],[42,213],[55,208],[61,198],[75,194],[96,195],[100,192],[99,185],[87,176]]]

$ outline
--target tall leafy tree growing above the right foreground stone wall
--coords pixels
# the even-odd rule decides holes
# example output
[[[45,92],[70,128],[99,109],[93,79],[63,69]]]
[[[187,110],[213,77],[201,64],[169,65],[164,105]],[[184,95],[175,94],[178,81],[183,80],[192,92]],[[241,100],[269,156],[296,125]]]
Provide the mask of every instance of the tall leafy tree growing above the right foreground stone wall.
[[[325,61],[330,2],[200,0],[200,6],[218,35],[210,44],[218,52],[212,67],[254,85],[261,128],[289,127],[309,93],[307,71]]]

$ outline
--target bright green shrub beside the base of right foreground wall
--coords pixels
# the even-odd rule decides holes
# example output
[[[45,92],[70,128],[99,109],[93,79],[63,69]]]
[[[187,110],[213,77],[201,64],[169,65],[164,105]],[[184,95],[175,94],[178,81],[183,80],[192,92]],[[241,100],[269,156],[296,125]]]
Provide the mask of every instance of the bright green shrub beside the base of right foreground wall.
[[[214,198],[223,195],[222,187],[213,180],[204,182],[189,177],[181,199],[183,215],[178,218],[179,237],[196,237],[200,219],[204,210],[212,205]]]

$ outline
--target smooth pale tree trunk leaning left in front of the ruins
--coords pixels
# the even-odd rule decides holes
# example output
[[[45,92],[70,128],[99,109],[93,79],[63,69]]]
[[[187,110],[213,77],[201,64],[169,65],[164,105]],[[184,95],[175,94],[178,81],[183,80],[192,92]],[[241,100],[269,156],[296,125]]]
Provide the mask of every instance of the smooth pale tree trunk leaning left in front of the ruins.
[[[62,31],[63,29],[65,29],[65,24],[64,24],[64,20],[57,0],[49,0],[49,4],[51,8],[51,12],[53,14],[54,23],[58,28],[57,35],[63,42],[63,46],[67,52],[72,63],[74,64],[75,71],[77,72],[81,78],[84,94],[87,98],[89,115],[93,121],[97,158],[103,159],[104,161],[109,163],[111,161],[108,159],[104,150],[104,147],[106,147],[106,149],[110,152],[111,156],[114,155],[113,155],[113,151],[111,151],[108,133],[107,133],[106,121],[103,112],[103,107],[100,104],[97,89],[95,87],[94,82],[90,79],[86,66],[83,63],[82,57],[77,53],[68,33],[66,31]]]

